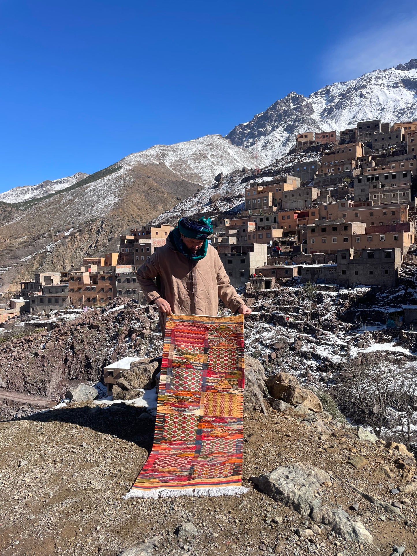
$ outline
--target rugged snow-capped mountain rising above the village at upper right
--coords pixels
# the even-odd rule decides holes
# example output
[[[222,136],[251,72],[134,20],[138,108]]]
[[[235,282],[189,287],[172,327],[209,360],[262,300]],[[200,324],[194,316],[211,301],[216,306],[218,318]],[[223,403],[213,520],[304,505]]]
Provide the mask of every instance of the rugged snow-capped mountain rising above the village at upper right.
[[[417,120],[416,59],[334,83],[309,97],[291,92],[250,122],[236,126],[226,139],[251,151],[257,139],[259,152],[271,162],[290,150],[297,133],[340,131],[374,118],[390,123]]]

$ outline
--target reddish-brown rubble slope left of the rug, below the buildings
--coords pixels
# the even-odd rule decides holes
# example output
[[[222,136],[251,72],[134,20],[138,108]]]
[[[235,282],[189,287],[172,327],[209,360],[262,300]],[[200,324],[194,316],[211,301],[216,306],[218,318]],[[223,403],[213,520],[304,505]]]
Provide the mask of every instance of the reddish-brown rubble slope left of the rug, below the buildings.
[[[117,297],[103,309],[82,313],[37,334],[21,332],[0,342],[0,414],[26,405],[4,404],[2,391],[63,398],[73,381],[97,381],[103,368],[124,356],[157,355],[162,338],[151,306]]]

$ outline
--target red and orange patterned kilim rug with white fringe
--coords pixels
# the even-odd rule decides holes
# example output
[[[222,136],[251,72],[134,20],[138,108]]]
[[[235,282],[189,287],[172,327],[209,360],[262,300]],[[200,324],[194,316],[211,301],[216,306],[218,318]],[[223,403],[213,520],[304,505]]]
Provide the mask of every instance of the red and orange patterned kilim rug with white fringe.
[[[124,498],[242,494],[244,318],[166,322],[153,448]]]

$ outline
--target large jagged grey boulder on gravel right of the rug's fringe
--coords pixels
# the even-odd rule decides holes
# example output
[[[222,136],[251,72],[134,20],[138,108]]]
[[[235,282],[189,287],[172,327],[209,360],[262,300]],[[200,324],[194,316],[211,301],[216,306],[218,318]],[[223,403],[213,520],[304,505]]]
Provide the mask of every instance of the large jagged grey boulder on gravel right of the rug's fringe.
[[[326,471],[312,465],[295,464],[281,465],[267,475],[251,477],[262,492],[285,504],[301,514],[309,516],[316,523],[330,525],[331,529],[346,540],[360,543],[371,543],[372,535],[361,522],[351,520],[341,508],[332,509],[323,506],[321,499],[316,497],[317,490],[331,483]]]

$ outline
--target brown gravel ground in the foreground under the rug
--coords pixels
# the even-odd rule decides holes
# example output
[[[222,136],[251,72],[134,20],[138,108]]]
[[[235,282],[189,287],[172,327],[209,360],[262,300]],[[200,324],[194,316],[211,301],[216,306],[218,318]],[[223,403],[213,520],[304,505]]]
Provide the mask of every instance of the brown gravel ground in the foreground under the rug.
[[[143,554],[386,554],[393,545],[417,554],[417,492],[391,494],[413,481],[415,468],[401,470],[395,454],[345,433],[334,421],[317,430],[305,415],[256,411],[244,418],[245,454],[241,497],[129,499],[122,496],[151,449],[155,421],[140,408],[73,404],[0,423],[0,553],[115,556],[123,548],[152,539]],[[362,470],[346,463],[366,459]],[[309,538],[311,522],[259,492],[252,475],[297,461],[315,465],[334,480],[318,495],[357,516],[373,545],[345,542],[324,526]],[[382,465],[388,476],[376,470]],[[403,465],[404,467],[404,465]],[[416,477],[417,478],[417,477]],[[384,502],[401,502],[404,517],[393,517],[357,494],[351,484]],[[408,503],[409,502],[409,503]],[[358,511],[350,510],[358,503]],[[181,538],[177,528],[192,522],[196,536]],[[322,527],[322,528],[321,528]],[[139,554],[139,553],[138,553]]]

